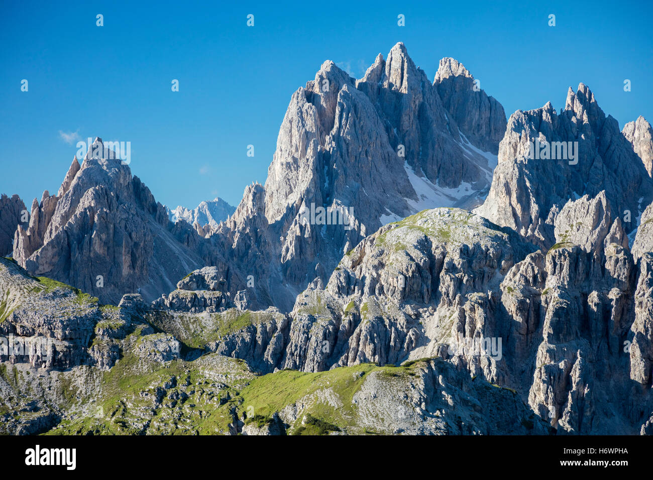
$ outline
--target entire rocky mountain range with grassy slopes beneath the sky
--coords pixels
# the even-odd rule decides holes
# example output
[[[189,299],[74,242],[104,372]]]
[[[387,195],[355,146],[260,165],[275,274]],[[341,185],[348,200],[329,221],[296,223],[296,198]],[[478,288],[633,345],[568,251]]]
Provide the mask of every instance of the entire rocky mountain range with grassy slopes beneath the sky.
[[[650,124],[433,78],[402,43],[325,61],[236,208],[91,148],[3,195],[0,334],[50,350],[0,355],[1,428],[652,434]]]

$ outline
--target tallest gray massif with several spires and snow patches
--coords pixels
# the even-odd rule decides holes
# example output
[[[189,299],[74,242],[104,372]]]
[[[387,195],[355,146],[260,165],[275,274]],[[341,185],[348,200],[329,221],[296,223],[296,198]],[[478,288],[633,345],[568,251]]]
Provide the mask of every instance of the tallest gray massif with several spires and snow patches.
[[[459,129],[456,116],[472,112]],[[402,43],[360,80],[326,61],[293,93],[265,186],[247,187],[210,240],[255,278],[261,302],[290,310],[298,291],[315,278],[325,283],[342,254],[381,225],[424,208],[479,204],[496,162],[483,150],[496,152],[502,112],[462,69],[443,69],[431,84]]]

